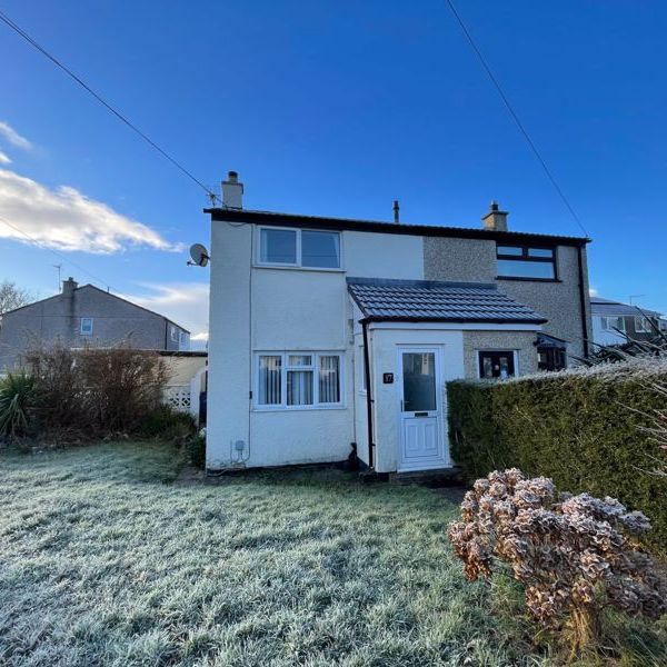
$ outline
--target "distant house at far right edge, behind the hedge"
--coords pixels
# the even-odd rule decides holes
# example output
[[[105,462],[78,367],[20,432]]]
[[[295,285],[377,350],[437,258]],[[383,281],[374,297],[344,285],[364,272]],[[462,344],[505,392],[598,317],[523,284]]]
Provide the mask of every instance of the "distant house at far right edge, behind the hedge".
[[[628,338],[650,340],[656,336],[656,328],[665,330],[667,327],[667,322],[655,310],[601,297],[590,297],[590,311],[593,340],[597,345],[624,345]]]

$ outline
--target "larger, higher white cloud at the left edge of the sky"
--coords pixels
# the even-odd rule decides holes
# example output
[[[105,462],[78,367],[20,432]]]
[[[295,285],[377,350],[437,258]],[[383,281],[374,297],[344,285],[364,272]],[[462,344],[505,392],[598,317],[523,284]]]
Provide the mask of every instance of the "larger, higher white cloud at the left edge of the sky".
[[[132,246],[182,249],[150,227],[74,188],[61,186],[51,190],[7,169],[0,169],[0,216],[42,245],[59,250],[110,255]],[[0,238],[27,241],[2,220]]]

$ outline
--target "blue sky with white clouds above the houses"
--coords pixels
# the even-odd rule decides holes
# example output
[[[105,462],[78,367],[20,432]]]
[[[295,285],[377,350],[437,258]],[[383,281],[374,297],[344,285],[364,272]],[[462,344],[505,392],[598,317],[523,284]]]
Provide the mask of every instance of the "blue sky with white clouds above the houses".
[[[594,238],[591,286],[667,312],[667,4],[457,6]],[[444,0],[2,9],[211,188],[238,170],[248,208],[390,219],[398,198],[476,227],[498,199],[512,229],[580,235]],[[208,241],[203,193],[3,24],[0,62],[0,215],[205,331],[182,250]],[[16,236],[0,280],[53,293],[62,260]]]

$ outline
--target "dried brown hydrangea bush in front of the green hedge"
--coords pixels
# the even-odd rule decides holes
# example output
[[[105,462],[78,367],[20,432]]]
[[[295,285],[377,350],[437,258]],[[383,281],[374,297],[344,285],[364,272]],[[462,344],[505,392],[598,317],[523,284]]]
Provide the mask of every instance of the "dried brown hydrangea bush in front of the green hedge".
[[[512,468],[478,479],[461,515],[448,536],[466,577],[508,564],[530,614],[570,627],[573,650],[596,641],[605,606],[654,619],[667,611],[667,583],[634,539],[650,524],[614,498],[558,494],[550,479]]]

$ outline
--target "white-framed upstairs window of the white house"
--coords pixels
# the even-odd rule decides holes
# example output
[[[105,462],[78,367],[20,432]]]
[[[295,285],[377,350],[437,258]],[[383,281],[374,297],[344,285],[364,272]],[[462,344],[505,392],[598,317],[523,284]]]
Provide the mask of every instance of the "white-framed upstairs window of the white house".
[[[262,228],[259,261],[312,269],[340,268],[340,233],[310,229]]]

